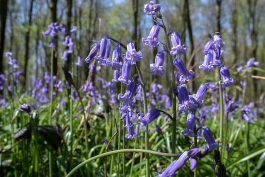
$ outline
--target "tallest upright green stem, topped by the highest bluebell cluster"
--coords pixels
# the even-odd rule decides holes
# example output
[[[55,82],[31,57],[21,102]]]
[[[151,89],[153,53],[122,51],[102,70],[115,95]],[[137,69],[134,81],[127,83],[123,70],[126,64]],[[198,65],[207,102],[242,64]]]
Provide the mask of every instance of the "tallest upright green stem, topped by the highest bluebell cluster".
[[[163,28],[164,28],[164,32],[165,32],[165,37],[167,39],[167,46],[170,49],[170,40],[169,40],[169,36],[168,36],[168,32],[167,32],[167,28],[165,26],[165,23],[162,20],[162,24],[163,24]],[[174,73],[174,64],[173,64],[173,58],[171,55],[169,55],[169,60],[170,60],[170,70],[171,70],[171,92],[172,92],[172,101],[173,101],[173,121],[172,121],[172,153],[176,152],[176,131],[177,131],[177,104],[176,104],[176,95],[173,93],[174,88],[175,88],[175,73]]]

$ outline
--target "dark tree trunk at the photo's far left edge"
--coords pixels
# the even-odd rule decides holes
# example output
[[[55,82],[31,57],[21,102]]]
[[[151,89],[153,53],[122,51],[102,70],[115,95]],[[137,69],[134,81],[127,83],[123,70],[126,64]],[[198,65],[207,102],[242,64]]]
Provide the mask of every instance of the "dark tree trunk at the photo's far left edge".
[[[4,47],[5,47],[5,30],[8,15],[8,0],[2,0],[0,6],[1,16],[1,38],[0,38],[0,73],[4,73]]]

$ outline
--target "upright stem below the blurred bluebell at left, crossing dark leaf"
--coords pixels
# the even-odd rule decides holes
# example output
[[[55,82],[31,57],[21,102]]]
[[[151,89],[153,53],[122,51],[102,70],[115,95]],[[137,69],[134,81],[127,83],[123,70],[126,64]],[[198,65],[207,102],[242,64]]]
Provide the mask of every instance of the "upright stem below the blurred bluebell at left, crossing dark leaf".
[[[52,117],[52,98],[54,92],[54,49],[51,49],[51,57],[50,57],[50,107],[49,107],[49,125],[51,125],[51,117]],[[52,177],[52,161],[51,161],[51,152],[48,152],[49,156],[49,176]]]

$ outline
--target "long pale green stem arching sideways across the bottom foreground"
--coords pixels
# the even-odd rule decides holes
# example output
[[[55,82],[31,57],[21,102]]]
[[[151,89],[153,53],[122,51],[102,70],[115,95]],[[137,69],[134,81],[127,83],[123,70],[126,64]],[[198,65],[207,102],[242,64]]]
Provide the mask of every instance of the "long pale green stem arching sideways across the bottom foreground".
[[[114,154],[120,154],[120,153],[128,153],[128,152],[137,152],[137,153],[145,153],[145,154],[154,154],[154,155],[158,155],[158,156],[166,156],[166,157],[179,157],[181,155],[180,154],[169,154],[169,153],[163,153],[163,152],[157,152],[157,151],[150,151],[150,150],[145,150],[145,149],[121,149],[121,150],[116,150],[116,151],[110,151],[110,152],[106,152],[106,153],[102,153],[99,155],[96,155],[94,157],[91,157],[85,161],[83,161],[82,163],[78,164],[76,167],[74,167],[67,175],[66,177],[69,177],[71,175],[73,175],[73,173],[75,171],[77,171],[79,168],[81,168],[82,166],[84,166],[85,164],[98,159],[98,158],[102,158],[105,156],[109,156],[109,155],[114,155]]]

